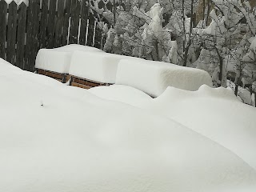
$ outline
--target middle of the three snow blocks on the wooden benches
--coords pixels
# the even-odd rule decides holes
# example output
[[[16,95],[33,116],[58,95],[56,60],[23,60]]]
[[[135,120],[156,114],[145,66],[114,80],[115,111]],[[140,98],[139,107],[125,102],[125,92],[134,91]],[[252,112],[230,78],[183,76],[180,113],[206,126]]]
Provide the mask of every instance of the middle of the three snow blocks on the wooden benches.
[[[118,62],[126,58],[130,62],[142,60],[119,54],[102,54],[74,51],[71,58],[70,74],[95,82],[115,83]]]

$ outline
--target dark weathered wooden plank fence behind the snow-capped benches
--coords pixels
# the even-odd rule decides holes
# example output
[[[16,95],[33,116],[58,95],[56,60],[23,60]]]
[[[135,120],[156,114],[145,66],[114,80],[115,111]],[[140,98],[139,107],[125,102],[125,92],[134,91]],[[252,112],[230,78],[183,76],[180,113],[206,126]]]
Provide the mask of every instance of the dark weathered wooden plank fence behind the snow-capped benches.
[[[0,1],[0,58],[34,71],[38,50],[67,44],[102,48],[105,36],[88,0]]]

